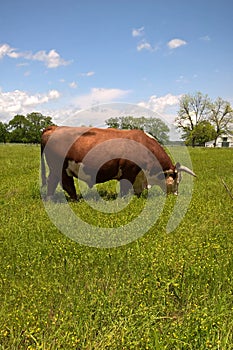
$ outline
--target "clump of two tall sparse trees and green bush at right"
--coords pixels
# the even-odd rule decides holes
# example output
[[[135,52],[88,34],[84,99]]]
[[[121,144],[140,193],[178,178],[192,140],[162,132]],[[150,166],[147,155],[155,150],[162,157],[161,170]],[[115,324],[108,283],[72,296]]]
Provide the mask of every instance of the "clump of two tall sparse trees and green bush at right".
[[[201,92],[183,95],[176,125],[186,145],[204,146],[205,142],[213,140],[216,146],[220,135],[233,132],[233,109],[220,97],[212,101]]]

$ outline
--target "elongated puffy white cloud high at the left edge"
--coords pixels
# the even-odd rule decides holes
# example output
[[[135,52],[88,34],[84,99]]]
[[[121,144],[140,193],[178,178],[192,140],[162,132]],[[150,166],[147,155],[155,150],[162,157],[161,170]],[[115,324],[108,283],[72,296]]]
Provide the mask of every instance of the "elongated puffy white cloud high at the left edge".
[[[65,61],[56,50],[50,50],[48,53],[41,50],[33,54],[32,52],[17,52],[16,49],[10,47],[8,44],[0,45],[0,59],[4,56],[13,59],[22,57],[27,60],[40,61],[48,68],[57,68],[71,63],[71,61]]]

